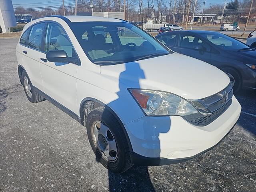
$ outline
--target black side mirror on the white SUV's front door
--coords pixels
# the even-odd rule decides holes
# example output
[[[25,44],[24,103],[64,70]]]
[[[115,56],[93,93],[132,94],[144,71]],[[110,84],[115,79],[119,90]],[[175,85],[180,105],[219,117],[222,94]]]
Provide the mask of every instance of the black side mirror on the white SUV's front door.
[[[75,63],[78,64],[78,58],[68,57],[64,50],[52,50],[46,53],[46,58],[55,63]]]

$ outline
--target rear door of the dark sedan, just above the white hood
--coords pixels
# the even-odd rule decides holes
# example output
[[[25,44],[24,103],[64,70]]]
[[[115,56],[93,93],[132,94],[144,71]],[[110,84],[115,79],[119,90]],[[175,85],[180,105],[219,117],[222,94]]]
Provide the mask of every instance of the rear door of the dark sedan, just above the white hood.
[[[178,34],[174,32],[167,32],[161,36],[156,37],[162,44],[170,48],[171,50],[177,50]]]

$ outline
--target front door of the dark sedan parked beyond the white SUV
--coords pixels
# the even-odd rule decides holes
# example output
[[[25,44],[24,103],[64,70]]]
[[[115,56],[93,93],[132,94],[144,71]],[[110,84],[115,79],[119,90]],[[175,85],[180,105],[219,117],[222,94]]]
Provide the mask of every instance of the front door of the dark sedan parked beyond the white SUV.
[[[204,62],[211,62],[211,46],[195,34],[180,33],[176,52],[194,57]]]

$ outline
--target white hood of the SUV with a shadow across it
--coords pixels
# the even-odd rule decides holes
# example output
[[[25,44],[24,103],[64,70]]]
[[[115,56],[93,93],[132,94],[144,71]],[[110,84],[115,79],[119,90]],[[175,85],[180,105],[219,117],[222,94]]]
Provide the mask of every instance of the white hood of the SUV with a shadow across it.
[[[141,88],[166,91],[185,99],[200,99],[228,86],[228,76],[218,68],[182,54],[173,53],[126,64],[101,66],[111,80],[109,91]]]

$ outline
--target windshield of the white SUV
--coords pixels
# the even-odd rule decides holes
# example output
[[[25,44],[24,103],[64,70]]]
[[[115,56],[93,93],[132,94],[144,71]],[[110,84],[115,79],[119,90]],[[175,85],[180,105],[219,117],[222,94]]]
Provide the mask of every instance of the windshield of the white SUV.
[[[74,22],[70,27],[95,64],[120,64],[172,53],[142,29],[127,22]]]

